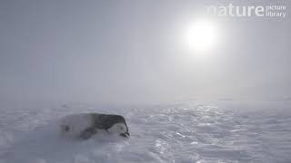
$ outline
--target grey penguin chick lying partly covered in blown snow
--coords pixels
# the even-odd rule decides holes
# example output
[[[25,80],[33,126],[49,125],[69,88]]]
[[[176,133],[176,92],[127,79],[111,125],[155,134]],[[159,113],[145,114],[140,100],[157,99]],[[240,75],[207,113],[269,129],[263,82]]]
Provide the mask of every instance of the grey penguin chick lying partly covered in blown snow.
[[[80,113],[66,116],[61,120],[61,133],[81,139],[89,139],[98,132],[105,131],[129,138],[125,118],[121,115]]]

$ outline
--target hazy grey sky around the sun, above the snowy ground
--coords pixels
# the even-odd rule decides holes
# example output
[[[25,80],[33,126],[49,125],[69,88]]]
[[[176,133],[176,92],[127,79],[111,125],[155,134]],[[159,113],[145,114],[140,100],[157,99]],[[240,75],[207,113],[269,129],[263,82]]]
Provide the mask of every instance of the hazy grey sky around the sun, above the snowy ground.
[[[1,101],[290,97],[290,1],[219,2],[1,0]],[[216,49],[183,48],[187,23],[205,5],[277,2],[285,19],[216,18]]]

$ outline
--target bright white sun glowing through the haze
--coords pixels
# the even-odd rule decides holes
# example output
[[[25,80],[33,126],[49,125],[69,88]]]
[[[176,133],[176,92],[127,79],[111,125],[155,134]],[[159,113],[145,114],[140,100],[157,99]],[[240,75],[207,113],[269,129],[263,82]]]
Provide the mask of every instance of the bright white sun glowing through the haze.
[[[216,45],[216,24],[210,20],[198,20],[186,28],[186,46],[196,52],[210,51]]]

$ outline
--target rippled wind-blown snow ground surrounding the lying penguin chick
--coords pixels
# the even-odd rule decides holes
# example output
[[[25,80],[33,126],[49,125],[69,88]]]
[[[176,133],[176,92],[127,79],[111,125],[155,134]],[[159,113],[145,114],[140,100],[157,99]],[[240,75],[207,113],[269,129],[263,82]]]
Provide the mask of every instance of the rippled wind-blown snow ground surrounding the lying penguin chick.
[[[291,162],[289,108],[233,101],[1,108],[0,163]],[[81,112],[123,115],[130,139],[61,137],[59,120]]]

